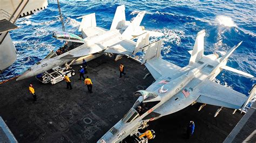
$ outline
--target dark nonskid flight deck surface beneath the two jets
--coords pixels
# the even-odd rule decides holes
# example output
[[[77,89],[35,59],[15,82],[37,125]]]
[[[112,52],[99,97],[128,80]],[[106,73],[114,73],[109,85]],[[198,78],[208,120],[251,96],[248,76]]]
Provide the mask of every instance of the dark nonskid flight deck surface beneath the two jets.
[[[119,78],[121,62],[126,75]],[[19,142],[96,142],[129,111],[137,99],[133,92],[154,81],[152,76],[143,80],[149,71],[127,58],[114,62],[103,55],[88,65],[86,76],[92,80],[92,94],[78,80],[78,73],[71,77],[72,90],[65,89],[64,81],[43,84],[35,77],[0,84],[0,116]],[[78,71],[78,66],[72,67]],[[36,90],[36,103],[28,91],[30,83]],[[242,117],[223,109],[214,118],[218,107],[207,105],[198,112],[198,106],[152,121],[150,129],[157,136],[151,142],[222,142]],[[195,121],[196,130],[187,140],[184,133],[190,120]]]

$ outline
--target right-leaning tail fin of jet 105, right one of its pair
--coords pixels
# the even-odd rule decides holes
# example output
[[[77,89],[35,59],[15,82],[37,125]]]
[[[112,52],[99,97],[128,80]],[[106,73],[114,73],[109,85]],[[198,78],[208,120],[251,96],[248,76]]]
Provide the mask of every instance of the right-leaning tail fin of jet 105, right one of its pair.
[[[122,37],[125,39],[132,39],[133,33],[142,30],[139,26],[142,23],[142,19],[145,15],[145,11],[139,12],[138,15],[132,20],[131,24],[122,33]]]

